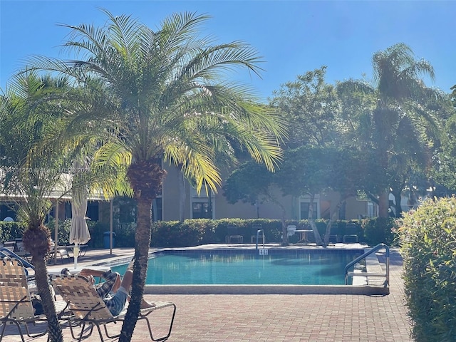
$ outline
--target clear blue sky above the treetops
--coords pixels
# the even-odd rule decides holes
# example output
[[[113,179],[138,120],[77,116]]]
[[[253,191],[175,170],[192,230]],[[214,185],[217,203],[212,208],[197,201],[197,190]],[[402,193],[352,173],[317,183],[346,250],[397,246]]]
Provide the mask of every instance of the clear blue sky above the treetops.
[[[237,78],[263,99],[323,65],[328,83],[370,80],[373,53],[399,42],[435,68],[435,82],[427,86],[450,93],[456,84],[456,1],[0,0],[0,88],[27,56],[61,56],[59,45],[69,31],[57,24],[103,25],[98,8],[131,14],[150,28],[173,12],[209,14],[205,34],[219,43],[247,41],[263,56],[262,78]]]

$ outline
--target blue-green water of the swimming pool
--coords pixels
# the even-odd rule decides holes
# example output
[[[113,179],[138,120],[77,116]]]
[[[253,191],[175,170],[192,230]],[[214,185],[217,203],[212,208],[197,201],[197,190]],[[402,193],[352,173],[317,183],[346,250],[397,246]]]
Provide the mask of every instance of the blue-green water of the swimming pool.
[[[149,259],[146,284],[343,285],[360,250],[164,251]],[[123,274],[127,265],[113,266]]]

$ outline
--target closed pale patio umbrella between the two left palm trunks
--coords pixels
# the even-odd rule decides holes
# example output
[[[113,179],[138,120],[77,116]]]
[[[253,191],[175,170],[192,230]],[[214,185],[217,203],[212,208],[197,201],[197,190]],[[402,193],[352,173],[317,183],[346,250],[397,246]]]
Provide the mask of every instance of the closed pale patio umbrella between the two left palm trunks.
[[[86,244],[90,240],[86,222],[88,192],[86,189],[73,190],[71,199],[71,229],[70,243],[74,244],[74,268],[78,266],[79,244]]]

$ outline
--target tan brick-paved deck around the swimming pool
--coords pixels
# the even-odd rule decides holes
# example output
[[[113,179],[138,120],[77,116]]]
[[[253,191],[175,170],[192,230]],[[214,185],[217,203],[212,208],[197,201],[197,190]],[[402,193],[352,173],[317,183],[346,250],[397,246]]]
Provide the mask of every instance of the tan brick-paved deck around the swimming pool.
[[[239,246],[237,246],[239,247]],[[228,247],[227,247],[228,248]],[[376,253],[382,260],[384,255]],[[133,256],[133,249],[88,251],[78,265]],[[63,266],[71,266],[64,264]],[[61,264],[50,266],[61,269]],[[390,294],[146,294],[150,301],[177,305],[174,327],[168,341],[187,342],[278,342],[413,341],[404,306],[403,266],[397,249],[390,251]],[[157,311],[153,323],[164,326],[166,313]],[[120,329],[120,324],[117,327]],[[42,328],[42,326],[41,326]],[[65,341],[73,341],[64,328]],[[4,342],[19,341],[16,328],[7,328]],[[46,341],[46,336],[26,341]],[[98,336],[93,336],[98,341]],[[109,341],[109,340],[108,340]],[[113,340],[116,341],[116,340]],[[150,341],[147,327],[138,323],[132,341]]]

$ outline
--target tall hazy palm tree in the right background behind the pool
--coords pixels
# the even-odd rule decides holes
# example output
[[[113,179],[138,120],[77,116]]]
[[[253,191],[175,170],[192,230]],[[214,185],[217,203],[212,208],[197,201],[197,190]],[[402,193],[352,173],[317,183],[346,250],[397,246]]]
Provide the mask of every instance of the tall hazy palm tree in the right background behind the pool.
[[[420,76],[434,78],[430,63],[417,61],[410,47],[397,43],[373,56],[374,85],[360,81],[346,81],[338,84],[343,92],[354,90],[375,96],[377,103],[371,115],[361,115],[359,127],[366,145],[375,155],[377,168],[382,175],[375,177],[378,191],[379,216],[388,216],[388,193],[390,175],[395,173],[391,167],[396,155],[410,152],[404,144],[420,145],[425,149],[426,133],[437,132],[437,121],[431,110],[426,110],[427,99],[440,96],[435,90],[425,87]],[[421,128],[420,128],[421,127]],[[405,129],[409,128],[409,129]],[[423,130],[422,128],[426,128]],[[366,133],[366,130],[368,133]],[[420,134],[415,134],[419,132]],[[402,147],[401,147],[402,146]],[[420,156],[424,154],[420,152]],[[416,161],[416,158],[415,158]],[[422,165],[426,161],[418,160]]]

